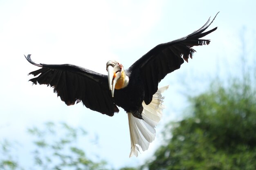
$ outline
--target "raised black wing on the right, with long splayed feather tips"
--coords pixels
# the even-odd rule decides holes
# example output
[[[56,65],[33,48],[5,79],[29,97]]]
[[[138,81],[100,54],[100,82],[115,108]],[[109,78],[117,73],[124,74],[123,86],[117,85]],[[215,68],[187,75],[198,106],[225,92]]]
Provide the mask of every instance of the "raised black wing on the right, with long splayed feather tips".
[[[215,18],[216,16],[213,20]],[[204,32],[211,25],[213,20],[210,22],[209,18],[204,26],[184,38],[155,46],[155,48],[148,51],[148,53],[143,55],[128,68],[128,71],[131,72],[131,76],[134,70],[140,72],[141,79],[144,82],[144,102],[146,104],[150,104],[152,101],[152,96],[157,92],[158,83],[168,73],[180,68],[184,60],[188,62],[189,57],[192,58],[195,52],[192,48],[193,46],[208,45],[210,43],[210,40],[202,40],[200,38],[217,29],[216,27],[210,31]]]

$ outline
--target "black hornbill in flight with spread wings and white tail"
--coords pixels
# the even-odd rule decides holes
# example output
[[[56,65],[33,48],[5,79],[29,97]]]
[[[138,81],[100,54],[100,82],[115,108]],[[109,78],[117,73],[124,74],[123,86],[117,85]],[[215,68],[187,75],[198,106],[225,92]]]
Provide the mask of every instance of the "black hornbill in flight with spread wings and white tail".
[[[179,69],[184,60],[192,59],[196,52],[193,46],[210,43],[210,40],[200,39],[217,29],[206,31],[213,22],[210,19],[183,38],[158,44],[128,69],[117,61],[108,61],[108,75],[72,64],[36,64],[31,60],[31,54],[25,55],[29,63],[40,67],[28,74],[34,75],[29,81],[54,88],[54,93],[67,106],[81,102],[85,107],[108,116],[118,113],[118,107],[123,108],[128,114],[129,156],[137,157],[138,152],[147,150],[155,139],[155,128],[162,118],[162,93],[168,86],[158,88],[159,82],[168,73]]]

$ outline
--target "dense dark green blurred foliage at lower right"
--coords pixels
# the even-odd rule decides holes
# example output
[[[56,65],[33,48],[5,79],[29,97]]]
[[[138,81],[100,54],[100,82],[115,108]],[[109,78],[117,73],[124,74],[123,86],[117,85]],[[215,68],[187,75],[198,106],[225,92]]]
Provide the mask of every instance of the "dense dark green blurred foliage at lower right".
[[[166,126],[149,170],[255,170],[256,91],[233,80],[190,98],[189,117]]]

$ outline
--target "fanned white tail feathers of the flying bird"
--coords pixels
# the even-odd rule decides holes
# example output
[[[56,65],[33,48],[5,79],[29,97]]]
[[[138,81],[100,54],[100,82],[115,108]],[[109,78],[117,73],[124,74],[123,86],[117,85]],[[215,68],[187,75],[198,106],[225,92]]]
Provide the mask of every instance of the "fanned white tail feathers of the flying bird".
[[[164,109],[164,97],[162,93],[168,89],[169,86],[159,88],[153,95],[153,99],[150,104],[146,105],[144,102],[142,106],[144,110],[142,112],[142,119],[138,119],[132,116],[132,113],[128,113],[128,121],[130,128],[131,138],[131,152],[130,157],[138,156],[138,151],[145,151],[148,149],[149,144],[155,139],[155,127],[162,118],[162,110]]]

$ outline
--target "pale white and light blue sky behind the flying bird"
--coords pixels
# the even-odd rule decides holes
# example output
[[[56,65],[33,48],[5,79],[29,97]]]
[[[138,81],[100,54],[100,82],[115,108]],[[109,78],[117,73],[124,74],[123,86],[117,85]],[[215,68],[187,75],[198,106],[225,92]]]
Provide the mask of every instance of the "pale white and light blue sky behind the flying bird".
[[[98,135],[97,146],[88,141],[81,146],[89,157],[99,155],[113,168],[142,164],[161,144],[164,124],[180,119],[187,106],[181,94],[183,81],[196,93],[203,91],[209,77],[236,73],[242,30],[248,57],[256,53],[255,7],[253,0],[0,0],[0,140],[19,141],[23,145],[20,159],[25,163],[24,155],[31,155],[26,129],[46,121],[65,121],[83,126],[90,139]],[[108,117],[82,104],[66,106],[53,89],[28,82],[32,76],[27,74],[38,67],[29,64],[23,54],[32,54],[36,63],[69,63],[106,74],[108,60],[118,60],[128,68],[157,44],[199,29],[218,11],[209,28],[218,29],[206,37],[210,45],[195,47],[193,60],[160,83],[170,84],[164,93],[164,116],[156,140],[137,158],[129,159],[124,110]]]

